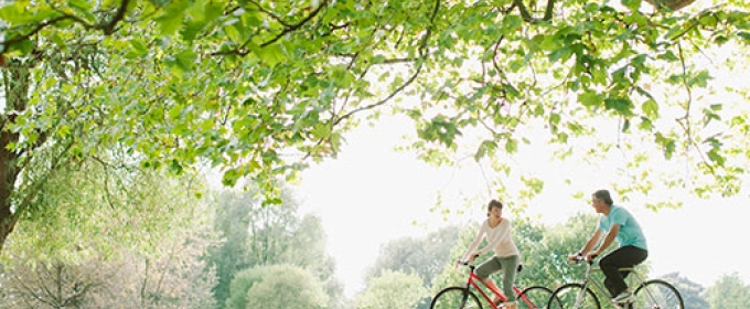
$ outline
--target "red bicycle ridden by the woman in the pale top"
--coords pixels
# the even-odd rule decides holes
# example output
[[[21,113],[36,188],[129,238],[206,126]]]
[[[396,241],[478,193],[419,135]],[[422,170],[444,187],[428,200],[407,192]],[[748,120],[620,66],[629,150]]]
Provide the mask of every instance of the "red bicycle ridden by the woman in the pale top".
[[[505,302],[507,297],[505,295],[492,287],[489,287],[484,281],[482,281],[476,274],[474,274],[474,265],[469,264],[465,260],[457,262],[459,265],[469,267],[469,278],[467,279],[465,286],[452,286],[447,287],[438,291],[430,303],[430,309],[482,309],[482,302],[480,302],[479,297],[472,291],[472,288],[484,298],[485,303],[490,303],[489,308],[501,309],[505,308]],[[521,271],[522,266],[518,265],[517,271]],[[484,291],[482,288],[488,288],[490,291],[500,298],[500,303],[495,305],[491,295]],[[532,286],[521,290],[518,287],[513,286],[513,291],[516,294],[516,303],[518,308],[545,308],[547,299],[553,294],[553,290],[543,286]]]

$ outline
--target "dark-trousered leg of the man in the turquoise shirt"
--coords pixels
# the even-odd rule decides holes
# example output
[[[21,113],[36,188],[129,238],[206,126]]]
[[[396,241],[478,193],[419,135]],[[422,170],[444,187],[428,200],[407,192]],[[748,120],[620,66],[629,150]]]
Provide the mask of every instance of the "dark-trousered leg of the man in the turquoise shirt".
[[[612,297],[620,295],[628,289],[624,277],[626,274],[620,271],[622,267],[632,267],[641,264],[649,256],[649,252],[634,247],[620,247],[599,260],[599,267],[604,273],[604,285],[612,294]]]

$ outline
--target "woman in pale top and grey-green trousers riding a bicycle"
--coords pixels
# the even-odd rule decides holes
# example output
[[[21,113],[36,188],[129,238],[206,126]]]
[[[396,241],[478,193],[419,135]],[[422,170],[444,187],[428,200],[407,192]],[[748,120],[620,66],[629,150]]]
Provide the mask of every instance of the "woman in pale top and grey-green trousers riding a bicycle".
[[[499,290],[497,285],[490,278],[490,275],[503,270],[503,292],[507,297],[505,308],[516,309],[515,292],[513,291],[513,283],[515,280],[516,268],[521,260],[518,248],[513,242],[511,221],[502,216],[503,203],[497,200],[492,200],[488,204],[488,219],[482,223],[482,226],[476,233],[476,237],[469,245],[467,253],[463,255],[463,260],[473,260],[478,256],[494,251],[494,255],[483,262],[474,274],[482,279],[490,288]],[[476,251],[476,247],[486,238],[488,245],[482,249]],[[500,299],[493,299],[497,302]]]

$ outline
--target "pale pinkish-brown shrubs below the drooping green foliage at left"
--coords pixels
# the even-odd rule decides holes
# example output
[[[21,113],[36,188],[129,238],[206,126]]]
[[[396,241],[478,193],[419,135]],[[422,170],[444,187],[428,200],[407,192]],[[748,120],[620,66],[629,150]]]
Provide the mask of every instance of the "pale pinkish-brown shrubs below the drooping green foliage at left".
[[[162,243],[163,255],[121,248],[79,263],[17,260],[0,278],[0,308],[216,308],[215,274],[202,255],[211,243],[185,235]]]

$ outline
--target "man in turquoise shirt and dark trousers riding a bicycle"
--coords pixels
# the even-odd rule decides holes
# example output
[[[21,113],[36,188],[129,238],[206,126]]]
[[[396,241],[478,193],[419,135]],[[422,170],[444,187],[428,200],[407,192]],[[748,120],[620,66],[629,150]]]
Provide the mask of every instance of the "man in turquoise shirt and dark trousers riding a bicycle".
[[[612,295],[612,301],[618,303],[632,302],[633,294],[625,284],[628,271],[620,268],[632,267],[643,263],[649,256],[646,238],[635,217],[625,209],[613,205],[609,191],[599,190],[591,194],[591,206],[601,214],[599,225],[586,243],[583,248],[569,257],[570,260],[585,256],[587,260],[601,255],[617,238],[620,246],[599,260],[599,267],[604,273],[604,286]],[[604,241],[596,249],[602,235]]]

